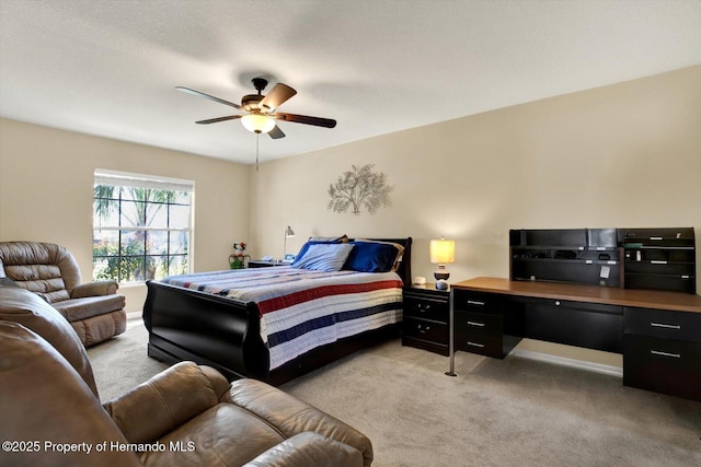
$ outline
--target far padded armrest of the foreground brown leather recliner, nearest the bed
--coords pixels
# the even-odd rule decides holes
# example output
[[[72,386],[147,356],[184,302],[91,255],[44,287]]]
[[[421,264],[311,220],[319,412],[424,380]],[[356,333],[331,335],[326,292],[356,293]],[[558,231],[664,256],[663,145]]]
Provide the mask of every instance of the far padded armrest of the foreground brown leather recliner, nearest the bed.
[[[219,398],[202,369],[181,362],[104,408],[130,443],[149,443],[217,404]]]

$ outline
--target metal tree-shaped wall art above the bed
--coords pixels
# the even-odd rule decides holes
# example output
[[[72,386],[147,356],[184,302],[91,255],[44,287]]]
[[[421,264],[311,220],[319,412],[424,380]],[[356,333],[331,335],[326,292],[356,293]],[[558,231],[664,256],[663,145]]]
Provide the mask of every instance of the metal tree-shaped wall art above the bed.
[[[382,172],[372,172],[374,166],[352,165],[352,171],[344,172],[335,184],[329,185],[331,200],[326,208],[334,212],[346,212],[352,208],[357,215],[361,207],[375,214],[379,208],[390,206],[393,187],[387,185],[387,176]]]

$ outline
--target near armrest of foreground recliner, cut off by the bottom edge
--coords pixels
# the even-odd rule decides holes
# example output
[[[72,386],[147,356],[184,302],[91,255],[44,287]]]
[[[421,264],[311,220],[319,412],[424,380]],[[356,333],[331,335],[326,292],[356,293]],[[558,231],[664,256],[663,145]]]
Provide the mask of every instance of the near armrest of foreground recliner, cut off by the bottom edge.
[[[307,431],[273,446],[244,467],[361,467],[363,454],[355,447]]]

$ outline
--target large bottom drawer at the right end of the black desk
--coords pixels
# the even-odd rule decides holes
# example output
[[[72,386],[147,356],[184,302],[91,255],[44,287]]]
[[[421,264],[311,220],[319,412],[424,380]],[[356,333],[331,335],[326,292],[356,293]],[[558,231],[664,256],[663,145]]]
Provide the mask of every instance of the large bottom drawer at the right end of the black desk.
[[[627,335],[623,384],[701,400],[701,343]]]

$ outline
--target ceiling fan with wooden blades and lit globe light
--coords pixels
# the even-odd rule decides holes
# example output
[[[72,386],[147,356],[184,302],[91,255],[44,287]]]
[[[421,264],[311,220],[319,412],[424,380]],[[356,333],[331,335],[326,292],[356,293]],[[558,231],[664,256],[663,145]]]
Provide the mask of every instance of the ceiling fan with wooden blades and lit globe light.
[[[218,102],[220,104],[229,105],[241,112],[243,115],[229,115],[227,117],[210,118],[207,120],[195,121],[200,125],[216,124],[218,121],[241,119],[243,127],[253,131],[254,133],[268,133],[273,139],[285,138],[285,133],[277,126],[275,120],[292,121],[295,124],[313,125],[317,127],[334,128],[336,120],[331,118],[310,117],[308,115],[286,114],[284,112],[276,112],[277,107],[287,102],[290,97],[297,94],[297,91],[288,86],[287,84],[277,83],[273,86],[269,93],[262,94],[262,91],[267,85],[267,80],[263,78],[254,78],[253,86],[258,92],[257,94],[246,94],[241,98],[241,105],[234,104],[229,101],[225,101],[219,97],[215,97],[209,94],[205,94],[199,91],[191,90],[189,87],[177,86],[177,91],[182,91],[187,94],[193,94],[199,97],[205,97],[210,101]]]

